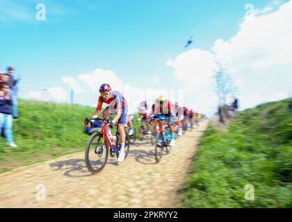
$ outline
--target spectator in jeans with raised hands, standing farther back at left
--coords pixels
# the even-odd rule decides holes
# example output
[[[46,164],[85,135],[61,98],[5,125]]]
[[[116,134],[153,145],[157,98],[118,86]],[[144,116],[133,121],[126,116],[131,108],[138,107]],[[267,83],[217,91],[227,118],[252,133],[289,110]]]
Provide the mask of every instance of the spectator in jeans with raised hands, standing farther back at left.
[[[17,103],[17,84],[19,83],[20,78],[13,76],[14,74],[14,69],[13,67],[7,67],[7,74],[9,76],[8,80],[8,85],[10,87],[10,94],[11,94],[11,99],[13,101],[13,118],[18,119],[18,103]]]

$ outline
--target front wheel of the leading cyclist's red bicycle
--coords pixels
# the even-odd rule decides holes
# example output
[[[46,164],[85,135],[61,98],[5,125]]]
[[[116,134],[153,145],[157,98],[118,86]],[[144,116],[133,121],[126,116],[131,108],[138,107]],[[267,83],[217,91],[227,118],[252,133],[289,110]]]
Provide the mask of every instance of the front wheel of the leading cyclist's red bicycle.
[[[108,160],[108,143],[102,147],[102,133],[94,133],[86,144],[86,167],[92,173],[99,173],[106,166]]]

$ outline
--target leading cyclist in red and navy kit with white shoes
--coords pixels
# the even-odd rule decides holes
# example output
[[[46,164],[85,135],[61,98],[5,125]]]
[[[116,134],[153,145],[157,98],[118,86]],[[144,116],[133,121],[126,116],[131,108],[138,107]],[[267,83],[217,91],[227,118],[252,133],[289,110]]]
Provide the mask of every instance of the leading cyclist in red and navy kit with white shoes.
[[[124,131],[124,126],[127,123],[127,112],[128,112],[128,105],[127,101],[124,99],[124,96],[121,92],[112,91],[111,86],[108,84],[102,84],[99,87],[100,96],[97,103],[97,108],[92,115],[92,119],[98,117],[99,112],[102,110],[102,104],[107,103],[108,107],[104,109],[102,112],[102,116],[108,118],[110,114],[115,114],[115,117],[110,123],[111,128],[115,126],[117,123],[117,129],[120,132],[120,155],[117,159],[118,162],[123,162],[125,153],[124,153],[124,144],[126,142],[126,133]],[[108,134],[111,135],[111,130],[108,130]]]

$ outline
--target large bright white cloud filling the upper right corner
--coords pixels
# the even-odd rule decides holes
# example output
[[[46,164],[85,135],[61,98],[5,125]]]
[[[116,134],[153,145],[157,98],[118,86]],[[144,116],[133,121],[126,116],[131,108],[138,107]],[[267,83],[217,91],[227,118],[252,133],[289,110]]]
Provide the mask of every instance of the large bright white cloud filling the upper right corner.
[[[271,7],[262,12],[272,10]],[[289,1],[279,10],[245,19],[231,40],[216,40],[213,52],[231,72],[288,64],[292,62],[291,27],[292,1]]]

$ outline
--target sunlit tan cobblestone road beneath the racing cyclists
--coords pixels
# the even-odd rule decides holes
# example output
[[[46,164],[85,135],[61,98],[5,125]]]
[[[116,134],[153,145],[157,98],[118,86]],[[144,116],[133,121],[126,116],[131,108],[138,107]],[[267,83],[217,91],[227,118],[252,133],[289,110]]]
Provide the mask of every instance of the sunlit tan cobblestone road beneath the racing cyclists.
[[[178,191],[207,124],[177,139],[159,164],[145,141],[131,146],[125,162],[110,159],[96,176],[88,173],[84,153],[3,173],[0,207],[181,207]]]

